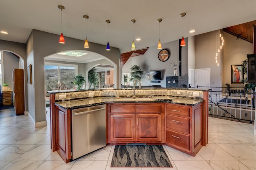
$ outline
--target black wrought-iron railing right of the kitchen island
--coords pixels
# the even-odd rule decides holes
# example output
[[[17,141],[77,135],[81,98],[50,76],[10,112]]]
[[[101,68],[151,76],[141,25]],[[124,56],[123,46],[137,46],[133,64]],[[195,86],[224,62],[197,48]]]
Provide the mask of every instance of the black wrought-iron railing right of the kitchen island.
[[[209,91],[209,116],[254,124],[255,91],[234,87],[202,87]]]

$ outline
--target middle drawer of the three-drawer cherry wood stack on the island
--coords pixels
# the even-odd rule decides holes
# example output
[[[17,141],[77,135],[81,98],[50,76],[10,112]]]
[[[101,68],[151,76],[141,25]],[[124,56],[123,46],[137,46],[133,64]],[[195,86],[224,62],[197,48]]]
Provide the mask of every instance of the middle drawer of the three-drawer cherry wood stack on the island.
[[[189,134],[189,119],[166,115],[166,127],[173,131]]]

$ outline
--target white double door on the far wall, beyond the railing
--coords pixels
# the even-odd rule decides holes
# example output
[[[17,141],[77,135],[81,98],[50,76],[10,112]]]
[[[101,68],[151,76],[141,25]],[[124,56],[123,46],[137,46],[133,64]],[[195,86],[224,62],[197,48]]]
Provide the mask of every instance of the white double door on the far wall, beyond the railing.
[[[209,87],[211,80],[210,75],[210,68],[195,69],[195,86]]]

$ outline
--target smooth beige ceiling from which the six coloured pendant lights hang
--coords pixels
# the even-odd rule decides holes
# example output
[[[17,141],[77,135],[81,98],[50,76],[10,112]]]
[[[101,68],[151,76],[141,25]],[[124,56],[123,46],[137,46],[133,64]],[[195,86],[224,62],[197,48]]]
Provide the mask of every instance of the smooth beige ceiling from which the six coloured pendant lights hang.
[[[26,43],[32,29],[60,34],[61,12],[64,37],[85,39],[85,20],[88,15],[87,39],[90,42],[109,43],[120,49],[120,53],[131,51],[132,23],[136,49],[156,46],[178,40],[182,37],[182,17],[184,16],[184,37],[190,37],[217,29],[256,20],[255,0],[1,0],[0,39]],[[196,32],[189,33],[191,29]],[[58,39],[56,39],[58,41]],[[90,44],[89,44],[90,45]]]

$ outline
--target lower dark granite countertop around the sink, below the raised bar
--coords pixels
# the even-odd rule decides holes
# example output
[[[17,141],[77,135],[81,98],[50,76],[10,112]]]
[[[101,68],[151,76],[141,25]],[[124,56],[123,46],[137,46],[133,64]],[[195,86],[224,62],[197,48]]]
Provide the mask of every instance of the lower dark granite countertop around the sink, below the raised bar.
[[[195,106],[202,103],[204,100],[202,98],[182,98],[182,97],[172,97],[172,96],[141,96],[136,98],[123,98],[123,97],[94,97],[85,98],[79,100],[66,100],[62,102],[55,102],[57,106],[64,109],[78,109],[82,107],[96,106],[106,103],[172,103],[181,104],[188,106]]]

